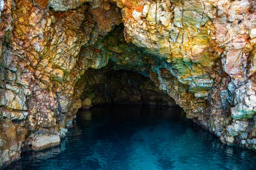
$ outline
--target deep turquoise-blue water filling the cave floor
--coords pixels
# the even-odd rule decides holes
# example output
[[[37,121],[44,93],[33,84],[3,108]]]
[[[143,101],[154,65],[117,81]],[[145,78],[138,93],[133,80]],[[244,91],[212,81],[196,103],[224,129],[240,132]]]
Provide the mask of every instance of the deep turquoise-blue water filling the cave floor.
[[[21,170],[255,170],[256,153],[221,144],[180,108],[79,111],[61,145],[22,153]]]

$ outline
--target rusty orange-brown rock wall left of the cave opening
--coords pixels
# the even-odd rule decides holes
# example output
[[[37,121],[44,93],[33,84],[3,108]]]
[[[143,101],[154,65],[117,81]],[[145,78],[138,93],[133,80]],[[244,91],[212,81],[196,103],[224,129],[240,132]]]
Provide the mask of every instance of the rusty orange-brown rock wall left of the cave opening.
[[[18,159],[21,150],[59,143],[73,121],[76,81],[85,69],[95,67],[79,57],[81,46],[92,45],[121,23],[112,3],[76,9],[66,3],[70,10],[64,12],[54,11],[51,4],[0,1],[0,167]]]

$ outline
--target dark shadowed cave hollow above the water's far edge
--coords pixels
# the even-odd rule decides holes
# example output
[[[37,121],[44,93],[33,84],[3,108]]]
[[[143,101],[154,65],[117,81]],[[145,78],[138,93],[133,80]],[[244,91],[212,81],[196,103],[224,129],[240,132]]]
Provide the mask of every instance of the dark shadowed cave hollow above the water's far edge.
[[[88,69],[77,82],[81,89],[81,109],[110,104],[136,104],[178,107],[149,77],[110,66]]]

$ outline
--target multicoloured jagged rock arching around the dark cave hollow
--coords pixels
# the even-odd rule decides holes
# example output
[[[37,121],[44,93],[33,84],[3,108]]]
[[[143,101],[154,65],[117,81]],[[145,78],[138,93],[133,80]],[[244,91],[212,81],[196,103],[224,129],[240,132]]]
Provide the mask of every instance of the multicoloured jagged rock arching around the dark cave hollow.
[[[255,149],[255,9],[248,0],[0,0],[0,167],[58,144],[90,89],[89,68],[108,62],[150,78],[222,142]]]

